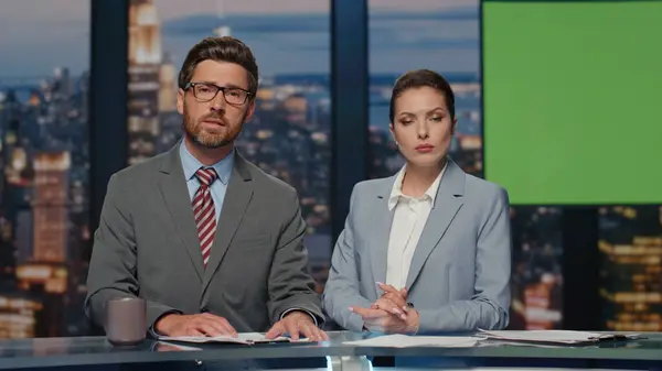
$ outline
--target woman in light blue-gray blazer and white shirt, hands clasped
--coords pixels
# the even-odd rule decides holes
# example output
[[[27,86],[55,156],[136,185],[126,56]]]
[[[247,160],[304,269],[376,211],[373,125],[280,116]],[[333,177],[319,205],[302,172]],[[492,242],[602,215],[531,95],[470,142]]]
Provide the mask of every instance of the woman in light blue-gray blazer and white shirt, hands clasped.
[[[427,69],[401,76],[389,116],[406,164],[354,186],[323,293],[327,314],[356,331],[505,328],[509,197],[448,156],[457,127],[450,85]]]

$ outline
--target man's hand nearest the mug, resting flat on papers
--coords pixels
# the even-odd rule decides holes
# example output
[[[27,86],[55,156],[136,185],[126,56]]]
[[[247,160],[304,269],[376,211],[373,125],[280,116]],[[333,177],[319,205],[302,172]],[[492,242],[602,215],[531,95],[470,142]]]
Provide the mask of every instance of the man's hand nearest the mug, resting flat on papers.
[[[237,336],[227,319],[211,313],[166,315],[154,324],[154,330],[166,336]]]

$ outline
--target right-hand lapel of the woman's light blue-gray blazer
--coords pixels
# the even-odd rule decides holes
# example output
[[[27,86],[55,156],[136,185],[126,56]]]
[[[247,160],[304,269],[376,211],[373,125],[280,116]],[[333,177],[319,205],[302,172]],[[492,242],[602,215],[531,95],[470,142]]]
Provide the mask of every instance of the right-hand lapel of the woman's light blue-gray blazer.
[[[448,159],[446,173],[437,189],[435,206],[430,210],[428,220],[423,229],[418,245],[412,258],[407,275],[407,288],[416,282],[426,260],[446,233],[448,226],[462,207],[465,194],[465,172]]]

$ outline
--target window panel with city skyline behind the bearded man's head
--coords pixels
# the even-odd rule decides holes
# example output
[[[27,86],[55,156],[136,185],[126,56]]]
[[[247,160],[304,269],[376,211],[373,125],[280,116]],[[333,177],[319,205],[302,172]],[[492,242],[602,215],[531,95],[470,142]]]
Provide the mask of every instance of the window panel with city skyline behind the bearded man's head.
[[[131,0],[129,31],[131,164],[181,139],[177,77],[195,43],[233,35],[252,48],[260,70],[257,110],[236,145],[248,161],[299,192],[320,291],[332,242],[329,26],[329,0]]]

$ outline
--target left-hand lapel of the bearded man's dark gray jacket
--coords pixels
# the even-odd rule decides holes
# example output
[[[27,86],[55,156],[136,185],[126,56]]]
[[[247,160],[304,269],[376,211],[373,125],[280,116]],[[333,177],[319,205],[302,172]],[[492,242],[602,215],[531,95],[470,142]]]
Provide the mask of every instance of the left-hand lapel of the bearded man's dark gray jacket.
[[[197,276],[202,281],[204,274],[202,252],[200,251],[197,229],[195,228],[186,179],[184,178],[184,171],[182,170],[179,156],[179,145],[175,145],[166,155],[161,163],[160,171],[162,174],[158,184],[161,196],[163,197],[163,203],[170,211],[172,223],[189,252],[189,258],[195,268]]]

